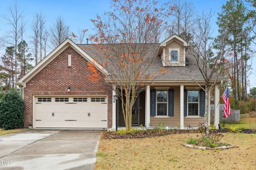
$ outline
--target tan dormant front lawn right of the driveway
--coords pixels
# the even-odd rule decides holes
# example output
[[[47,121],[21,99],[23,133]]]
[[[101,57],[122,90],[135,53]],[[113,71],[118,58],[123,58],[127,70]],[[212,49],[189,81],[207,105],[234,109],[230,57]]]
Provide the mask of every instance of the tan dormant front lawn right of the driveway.
[[[101,139],[95,169],[256,169],[256,134],[223,133],[237,148],[196,150],[181,144],[200,134]]]

